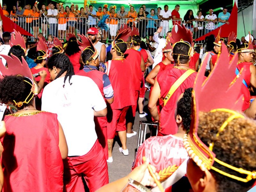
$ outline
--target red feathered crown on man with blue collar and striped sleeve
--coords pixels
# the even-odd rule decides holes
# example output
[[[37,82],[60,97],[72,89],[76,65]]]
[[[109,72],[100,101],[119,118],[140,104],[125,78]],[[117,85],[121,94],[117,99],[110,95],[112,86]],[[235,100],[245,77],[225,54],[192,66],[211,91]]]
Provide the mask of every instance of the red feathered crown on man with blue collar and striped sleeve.
[[[78,36],[81,38],[81,41],[82,41],[82,42],[80,41],[77,42],[79,44],[79,48],[81,49],[81,51],[83,52],[84,50],[91,50],[92,56],[90,58],[92,58],[93,60],[96,60],[99,56],[99,52],[93,46],[92,41],[84,35],[78,34]],[[86,61],[85,65],[87,65],[90,62],[90,58]]]

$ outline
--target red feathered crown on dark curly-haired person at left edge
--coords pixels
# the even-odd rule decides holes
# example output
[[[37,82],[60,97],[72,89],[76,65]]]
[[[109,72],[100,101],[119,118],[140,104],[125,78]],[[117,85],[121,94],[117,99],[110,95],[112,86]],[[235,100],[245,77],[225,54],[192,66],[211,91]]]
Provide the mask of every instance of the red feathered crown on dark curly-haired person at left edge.
[[[31,73],[30,68],[28,67],[28,63],[23,57],[22,57],[22,63],[21,63],[19,58],[13,55],[12,53],[11,53],[11,57],[8,55],[0,55],[0,56],[3,57],[8,63],[8,68],[6,68],[4,67],[2,60],[0,60],[0,71],[2,73],[1,78],[5,76],[10,76],[10,75],[13,75],[13,76],[21,75],[21,76],[27,77],[30,80],[29,82],[28,81],[25,81],[25,82],[31,85],[31,92],[28,94],[28,97],[26,98],[25,101],[14,100],[15,106],[21,107],[23,103],[29,103],[30,100],[34,97],[34,95],[38,94],[38,87],[34,82],[33,75]]]

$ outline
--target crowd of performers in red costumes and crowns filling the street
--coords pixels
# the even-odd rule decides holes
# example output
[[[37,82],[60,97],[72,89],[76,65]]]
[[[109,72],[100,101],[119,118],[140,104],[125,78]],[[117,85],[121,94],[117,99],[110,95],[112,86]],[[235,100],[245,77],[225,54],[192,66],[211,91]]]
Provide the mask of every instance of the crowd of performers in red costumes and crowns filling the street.
[[[179,6],[174,11],[177,20]],[[168,6],[164,12],[170,12]],[[124,7],[120,13],[124,19]],[[78,13],[71,14],[76,18]],[[138,14],[145,17],[143,6]],[[171,19],[159,15],[163,23]],[[186,18],[189,23],[193,12]],[[85,184],[92,192],[128,191],[134,185],[161,192],[252,188],[256,39],[249,33],[240,41],[232,31],[228,37],[219,31],[198,46],[188,25],[176,23],[171,31],[160,25],[144,42],[143,30],[129,21],[111,44],[104,44],[96,27],[79,38],[71,30],[66,42],[39,33],[38,42],[28,44],[16,30],[3,33],[3,191],[85,191]],[[114,138],[121,142],[118,151],[128,156],[127,138],[137,135],[137,109],[138,118],[149,116],[143,111],[146,91],[157,136],[139,147],[129,175],[109,183]]]

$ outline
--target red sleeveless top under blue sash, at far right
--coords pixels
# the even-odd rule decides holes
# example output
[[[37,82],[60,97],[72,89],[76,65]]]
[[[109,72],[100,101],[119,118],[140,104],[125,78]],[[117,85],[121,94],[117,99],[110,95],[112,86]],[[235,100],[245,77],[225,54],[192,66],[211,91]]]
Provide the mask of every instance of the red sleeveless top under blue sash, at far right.
[[[248,62],[242,62],[237,65],[237,69],[239,71],[241,71],[242,68],[244,68],[245,70],[244,81],[246,82],[248,87],[250,86],[250,81],[251,81],[251,70],[250,70],[251,65],[252,63],[248,63]],[[250,91],[244,84],[241,88],[241,94],[244,95],[244,103],[242,108],[242,111],[244,111],[245,109],[250,107]]]

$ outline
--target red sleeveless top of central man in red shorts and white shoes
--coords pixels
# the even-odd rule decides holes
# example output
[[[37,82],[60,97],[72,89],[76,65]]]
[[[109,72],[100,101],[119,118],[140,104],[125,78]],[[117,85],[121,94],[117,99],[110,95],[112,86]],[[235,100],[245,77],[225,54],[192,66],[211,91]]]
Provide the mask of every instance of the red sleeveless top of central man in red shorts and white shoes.
[[[115,93],[111,108],[122,109],[136,105],[130,62],[128,60],[111,60],[111,65],[109,65],[109,61],[107,65],[109,68],[108,77]]]

